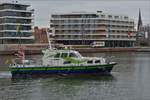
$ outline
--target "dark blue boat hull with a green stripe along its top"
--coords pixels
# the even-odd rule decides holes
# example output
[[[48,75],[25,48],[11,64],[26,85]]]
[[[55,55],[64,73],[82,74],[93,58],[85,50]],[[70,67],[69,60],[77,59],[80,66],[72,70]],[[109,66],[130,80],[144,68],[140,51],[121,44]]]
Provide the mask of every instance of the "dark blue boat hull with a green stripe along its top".
[[[11,67],[12,76],[16,75],[49,75],[49,74],[96,74],[110,73],[116,63],[90,66],[66,66],[66,67]]]

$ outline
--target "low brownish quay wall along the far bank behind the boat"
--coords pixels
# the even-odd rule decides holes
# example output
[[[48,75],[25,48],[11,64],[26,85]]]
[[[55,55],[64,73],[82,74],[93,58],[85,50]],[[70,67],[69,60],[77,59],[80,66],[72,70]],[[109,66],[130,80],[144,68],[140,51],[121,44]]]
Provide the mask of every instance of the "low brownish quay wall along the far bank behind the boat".
[[[48,44],[24,44],[22,48],[26,54],[41,54]],[[74,48],[80,53],[100,53],[100,52],[150,52],[150,47],[112,47],[112,48]],[[0,55],[15,54],[18,45],[0,45]]]

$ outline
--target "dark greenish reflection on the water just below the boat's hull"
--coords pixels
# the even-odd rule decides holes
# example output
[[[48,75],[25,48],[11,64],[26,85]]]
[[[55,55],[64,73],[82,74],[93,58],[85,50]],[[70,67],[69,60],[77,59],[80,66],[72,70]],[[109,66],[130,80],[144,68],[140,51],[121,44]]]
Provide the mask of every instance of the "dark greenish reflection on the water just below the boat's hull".
[[[30,76],[20,76],[20,77],[12,77],[11,83],[18,83],[18,82],[30,82],[34,80],[53,80],[55,84],[82,84],[84,82],[89,81],[98,81],[98,82],[111,82],[115,81],[115,77],[111,74],[82,74],[82,75],[30,75]]]

